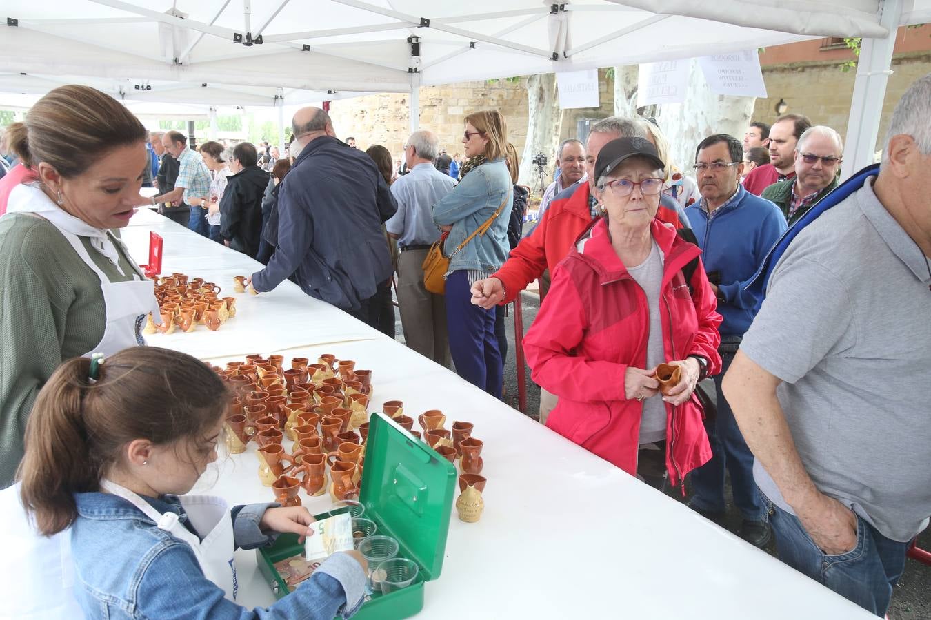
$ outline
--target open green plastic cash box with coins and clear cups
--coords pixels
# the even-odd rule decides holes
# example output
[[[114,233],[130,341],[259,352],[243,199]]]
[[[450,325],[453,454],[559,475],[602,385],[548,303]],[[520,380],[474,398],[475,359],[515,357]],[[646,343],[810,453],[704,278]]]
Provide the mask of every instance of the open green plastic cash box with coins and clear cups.
[[[424,608],[425,582],[439,577],[443,568],[455,483],[452,463],[383,414],[372,414],[359,502],[365,506],[364,516],[378,525],[378,534],[397,539],[398,557],[417,562],[419,572],[409,587],[372,594],[354,620],[406,618]],[[275,563],[304,555],[297,535],[282,534],[271,547],[257,549],[256,555],[259,570],[277,598],[290,593]]]

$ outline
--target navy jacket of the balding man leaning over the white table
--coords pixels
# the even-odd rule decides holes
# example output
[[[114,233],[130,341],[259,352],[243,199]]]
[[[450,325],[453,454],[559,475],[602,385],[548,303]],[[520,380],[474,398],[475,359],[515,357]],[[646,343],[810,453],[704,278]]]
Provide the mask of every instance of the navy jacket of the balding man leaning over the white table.
[[[286,278],[342,310],[358,310],[393,271],[382,223],[398,210],[364,151],[324,136],[298,155],[278,195],[278,243],[252,276],[260,293]]]

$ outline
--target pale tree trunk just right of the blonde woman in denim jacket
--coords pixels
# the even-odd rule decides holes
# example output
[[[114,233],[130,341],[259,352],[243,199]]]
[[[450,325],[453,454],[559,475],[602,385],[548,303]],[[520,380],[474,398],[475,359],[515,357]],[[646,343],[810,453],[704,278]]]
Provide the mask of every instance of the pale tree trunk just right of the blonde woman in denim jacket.
[[[551,179],[549,172],[553,169],[556,147],[560,144],[562,130],[562,113],[559,94],[556,89],[556,74],[543,73],[527,78],[527,141],[520,157],[519,183],[529,185],[537,190],[536,166],[533,157],[537,153],[546,155],[547,171],[544,180]],[[539,190],[542,195],[546,185]]]

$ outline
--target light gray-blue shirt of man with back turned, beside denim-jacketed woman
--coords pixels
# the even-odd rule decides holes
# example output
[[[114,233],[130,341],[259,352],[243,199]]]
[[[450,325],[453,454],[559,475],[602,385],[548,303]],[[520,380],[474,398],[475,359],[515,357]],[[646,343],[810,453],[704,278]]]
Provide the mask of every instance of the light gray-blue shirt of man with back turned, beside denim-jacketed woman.
[[[398,235],[398,245],[429,245],[439,239],[433,223],[433,205],[452,191],[455,180],[433,164],[418,164],[391,184],[398,211],[385,222],[385,229]]]

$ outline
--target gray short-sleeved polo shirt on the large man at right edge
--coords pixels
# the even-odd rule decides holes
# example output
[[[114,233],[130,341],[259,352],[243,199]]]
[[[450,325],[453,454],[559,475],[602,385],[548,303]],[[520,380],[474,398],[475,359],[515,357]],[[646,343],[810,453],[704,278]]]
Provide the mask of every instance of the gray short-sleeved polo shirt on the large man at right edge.
[[[931,515],[931,278],[874,180],[789,245],[740,348],[782,379],[817,488],[905,542]],[[759,462],[753,473],[791,512]]]

